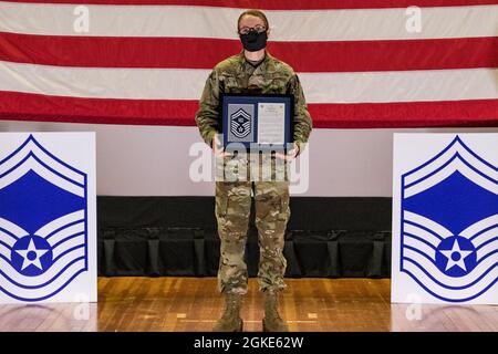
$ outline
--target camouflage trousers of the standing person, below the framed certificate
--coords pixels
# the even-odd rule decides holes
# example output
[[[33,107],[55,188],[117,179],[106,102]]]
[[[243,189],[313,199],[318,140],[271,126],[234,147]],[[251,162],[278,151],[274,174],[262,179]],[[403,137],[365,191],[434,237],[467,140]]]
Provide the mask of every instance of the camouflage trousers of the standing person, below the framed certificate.
[[[274,159],[274,158],[273,158]],[[225,159],[227,160],[227,159]],[[259,162],[261,167],[269,158]],[[252,162],[252,164],[255,164]],[[250,169],[251,162],[243,165]],[[287,169],[287,164],[283,167]],[[283,256],[284,232],[290,217],[289,178],[276,178],[271,169],[271,180],[242,177],[237,180],[216,181],[216,218],[220,238],[220,260],[218,289],[220,292],[246,294],[248,272],[245,262],[245,248],[249,227],[251,200],[253,194],[256,207],[256,227],[260,250],[258,282],[259,290],[282,290],[287,260]],[[237,174],[237,173],[236,173]],[[241,177],[241,178],[240,178]]]

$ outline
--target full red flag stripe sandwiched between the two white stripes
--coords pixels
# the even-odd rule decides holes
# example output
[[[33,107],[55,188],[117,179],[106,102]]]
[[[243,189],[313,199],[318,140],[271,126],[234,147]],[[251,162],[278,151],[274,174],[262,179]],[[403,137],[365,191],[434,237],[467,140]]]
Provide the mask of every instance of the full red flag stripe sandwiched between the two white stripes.
[[[498,66],[498,37],[338,42],[270,42],[298,72]],[[238,40],[30,35],[0,32],[0,60],[58,66],[211,69]]]

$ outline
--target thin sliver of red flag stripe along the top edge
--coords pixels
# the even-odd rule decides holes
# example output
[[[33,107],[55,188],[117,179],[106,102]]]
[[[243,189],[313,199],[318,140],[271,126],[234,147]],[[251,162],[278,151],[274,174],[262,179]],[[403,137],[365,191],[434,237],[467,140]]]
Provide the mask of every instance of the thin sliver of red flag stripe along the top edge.
[[[496,0],[10,0],[11,2],[71,4],[163,4],[266,10],[385,9],[497,4]]]

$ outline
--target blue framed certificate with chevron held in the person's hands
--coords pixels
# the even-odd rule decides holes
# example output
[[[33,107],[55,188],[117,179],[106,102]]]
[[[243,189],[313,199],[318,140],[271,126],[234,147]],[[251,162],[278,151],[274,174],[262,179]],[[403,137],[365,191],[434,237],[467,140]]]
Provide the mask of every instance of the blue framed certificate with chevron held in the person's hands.
[[[225,148],[291,148],[288,144],[293,142],[293,95],[221,94],[220,104]]]

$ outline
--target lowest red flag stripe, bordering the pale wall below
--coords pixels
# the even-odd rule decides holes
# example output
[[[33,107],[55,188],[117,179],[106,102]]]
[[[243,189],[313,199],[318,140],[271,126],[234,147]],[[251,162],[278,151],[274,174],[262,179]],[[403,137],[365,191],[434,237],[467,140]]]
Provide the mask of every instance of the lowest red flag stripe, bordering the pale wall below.
[[[94,124],[195,125],[197,101],[111,100],[0,92],[0,118]],[[498,126],[498,100],[309,104],[318,128]]]

